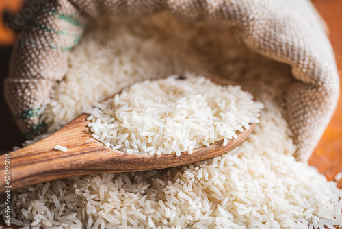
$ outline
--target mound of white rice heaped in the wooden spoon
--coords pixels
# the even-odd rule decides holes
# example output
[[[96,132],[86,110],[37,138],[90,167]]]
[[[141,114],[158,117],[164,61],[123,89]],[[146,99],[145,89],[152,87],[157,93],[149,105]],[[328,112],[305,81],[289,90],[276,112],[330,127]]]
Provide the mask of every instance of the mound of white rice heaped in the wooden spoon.
[[[132,154],[171,154],[237,138],[259,123],[263,104],[241,86],[203,76],[146,80],[87,110],[92,136]]]

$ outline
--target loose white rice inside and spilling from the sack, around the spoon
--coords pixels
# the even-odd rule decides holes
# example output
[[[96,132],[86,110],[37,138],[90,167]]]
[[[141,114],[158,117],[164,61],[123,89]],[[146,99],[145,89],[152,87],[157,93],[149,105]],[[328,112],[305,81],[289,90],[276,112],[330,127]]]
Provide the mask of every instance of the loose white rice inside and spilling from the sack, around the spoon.
[[[342,191],[315,168],[293,158],[295,145],[282,117],[282,93],[293,81],[287,65],[251,53],[231,31],[204,23],[185,25],[166,12],[129,22],[103,19],[90,31],[73,50],[68,75],[47,105],[50,131],[126,86],[185,71],[243,84],[265,105],[260,124],[231,152],[193,165],[77,176],[19,189],[12,195],[12,224],[23,228],[342,226]],[[5,205],[0,208],[3,214]]]

